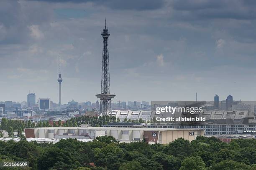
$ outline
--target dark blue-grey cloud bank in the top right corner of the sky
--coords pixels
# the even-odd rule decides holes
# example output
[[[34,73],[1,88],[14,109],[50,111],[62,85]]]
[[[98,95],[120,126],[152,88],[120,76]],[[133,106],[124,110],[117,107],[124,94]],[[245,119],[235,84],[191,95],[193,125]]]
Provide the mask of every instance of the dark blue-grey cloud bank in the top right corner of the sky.
[[[246,0],[174,0],[171,7],[183,11],[175,15],[184,20],[256,19],[255,2]],[[186,11],[184,13],[184,11]]]

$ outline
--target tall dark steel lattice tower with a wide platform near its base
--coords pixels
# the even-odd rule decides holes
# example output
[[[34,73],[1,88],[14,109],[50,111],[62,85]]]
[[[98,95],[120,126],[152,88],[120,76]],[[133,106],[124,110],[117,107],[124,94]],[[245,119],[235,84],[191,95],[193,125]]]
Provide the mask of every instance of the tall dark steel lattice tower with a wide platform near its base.
[[[101,69],[101,92],[96,95],[100,98],[100,114],[108,115],[111,110],[111,98],[115,97],[114,94],[110,93],[110,79],[109,79],[109,56],[108,56],[108,37],[110,33],[108,28],[105,28],[101,33],[103,37],[103,49],[102,49],[102,69]]]

